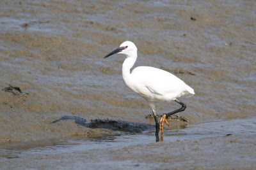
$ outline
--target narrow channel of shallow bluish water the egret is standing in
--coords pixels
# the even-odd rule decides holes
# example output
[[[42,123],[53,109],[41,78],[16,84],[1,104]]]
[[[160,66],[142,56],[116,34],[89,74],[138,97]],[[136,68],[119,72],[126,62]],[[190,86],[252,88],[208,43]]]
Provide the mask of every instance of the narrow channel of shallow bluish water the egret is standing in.
[[[241,119],[228,121],[205,122],[203,124],[188,124],[179,129],[168,129],[161,136],[164,142],[183,140],[198,140],[209,137],[232,135],[255,135],[256,119]],[[93,138],[63,138],[35,141],[31,143],[13,144],[0,149],[1,162],[5,159],[25,158],[31,159],[38,155],[58,155],[60,153],[76,153],[86,150],[116,148],[154,143],[154,131],[140,134],[123,134],[111,136],[97,136]]]

